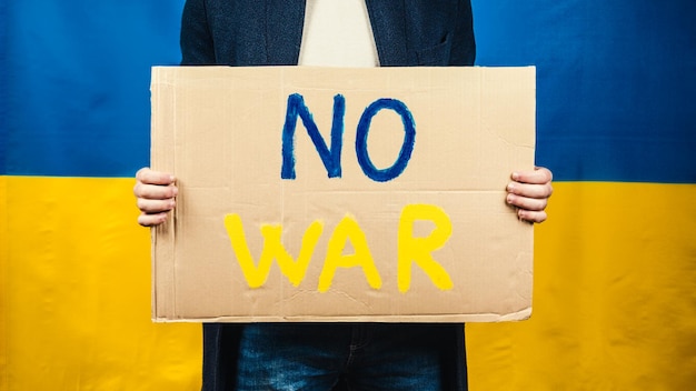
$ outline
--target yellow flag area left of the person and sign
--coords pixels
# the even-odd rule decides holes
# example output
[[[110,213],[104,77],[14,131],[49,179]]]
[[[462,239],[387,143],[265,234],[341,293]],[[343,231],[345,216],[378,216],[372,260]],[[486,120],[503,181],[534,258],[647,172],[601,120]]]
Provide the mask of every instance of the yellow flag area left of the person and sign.
[[[200,325],[150,321],[133,183],[0,177],[0,390],[200,389]]]

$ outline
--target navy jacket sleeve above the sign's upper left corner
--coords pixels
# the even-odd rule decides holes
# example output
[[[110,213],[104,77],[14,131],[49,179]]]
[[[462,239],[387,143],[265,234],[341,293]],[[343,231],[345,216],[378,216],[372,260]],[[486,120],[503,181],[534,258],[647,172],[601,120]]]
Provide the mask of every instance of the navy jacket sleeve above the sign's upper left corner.
[[[181,64],[215,64],[212,36],[208,26],[206,0],[187,0],[181,16]]]

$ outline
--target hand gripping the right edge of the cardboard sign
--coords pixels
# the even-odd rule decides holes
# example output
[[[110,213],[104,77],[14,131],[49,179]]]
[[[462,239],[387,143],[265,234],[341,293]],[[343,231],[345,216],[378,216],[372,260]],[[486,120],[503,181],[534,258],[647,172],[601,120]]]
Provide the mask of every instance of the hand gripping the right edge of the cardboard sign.
[[[534,171],[513,172],[507,186],[507,203],[517,208],[517,217],[528,222],[546,220],[546,205],[554,189],[551,171],[537,167]]]

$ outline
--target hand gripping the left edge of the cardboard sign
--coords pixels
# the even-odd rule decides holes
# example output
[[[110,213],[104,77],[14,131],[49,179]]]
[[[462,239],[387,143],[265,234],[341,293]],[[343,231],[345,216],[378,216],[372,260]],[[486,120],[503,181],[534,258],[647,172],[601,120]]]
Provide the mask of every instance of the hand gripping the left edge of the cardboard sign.
[[[155,227],[167,220],[167,213],[176,205],[176,179],[167,172],[142,168],[136,173],[136,194],[140,215],[138,223],[142,227]]]

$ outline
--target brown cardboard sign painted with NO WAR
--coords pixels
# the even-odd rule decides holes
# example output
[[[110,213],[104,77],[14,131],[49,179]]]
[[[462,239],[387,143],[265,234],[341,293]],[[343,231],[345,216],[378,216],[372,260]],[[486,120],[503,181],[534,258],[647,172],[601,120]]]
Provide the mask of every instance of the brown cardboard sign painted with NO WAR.
[[[471,322],[531,311],[534,68],[158,67],[157,321]]]

